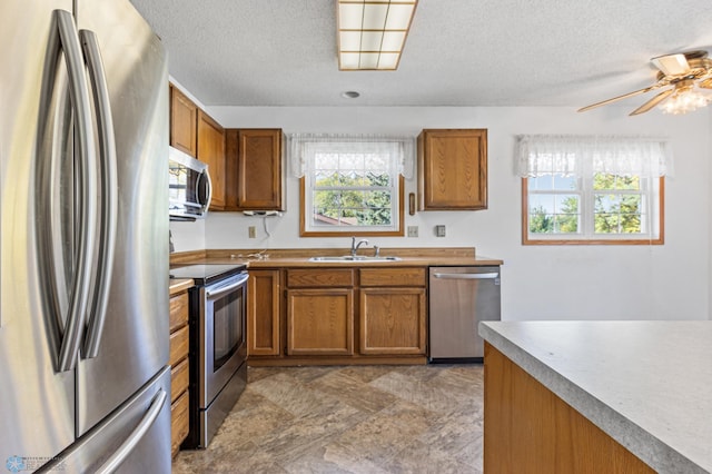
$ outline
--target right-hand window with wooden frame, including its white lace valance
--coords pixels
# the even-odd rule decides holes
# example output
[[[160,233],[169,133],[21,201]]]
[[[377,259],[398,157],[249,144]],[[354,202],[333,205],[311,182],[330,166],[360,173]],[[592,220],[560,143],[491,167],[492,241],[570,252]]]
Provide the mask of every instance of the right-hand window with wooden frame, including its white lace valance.
[[[520,137],[523,243],[663,244],[661,140]]]

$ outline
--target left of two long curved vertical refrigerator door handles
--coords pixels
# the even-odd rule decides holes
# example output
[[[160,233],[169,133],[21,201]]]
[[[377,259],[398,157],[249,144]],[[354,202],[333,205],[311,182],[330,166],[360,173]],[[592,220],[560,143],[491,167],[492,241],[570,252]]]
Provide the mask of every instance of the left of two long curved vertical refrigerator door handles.
[[[93,162],[95,142],[91,105],[79,36],[71,13],[65,10],[55,10],[52,12],[52,27],[48,41],[44,70],[42,72],[40,121],[38,127],[40,138],[43,137],[47,128],[52,88],[55,87],[61,52],[65,53],[67,63],[69,95],[75,111],[76,141],[79,148],[79,166],[77,167],[77,184],[79,189],[76,208],[77,219],[75,221],[76,235],[79,235],[73,266],[76,273],[71,282],[71,290],[69,292],[68,313],[63,332],[58,326],[53,326],[61,335],[61,343],[58,340],[59,356],[56,368],[58,372],[67,372],[73,369],[77,364],[79,346],[81,344],[81,333],[85,326],[85,315],[87,313],[92,267],[90,243],[96,231],[96,205],[93,204],[96,196],[96,168]],[[44,169],[43,167],[47,166],[48,164],[39,164],[38,168]],[[40,179],[40,184],[42,185],[39,189],[40,207],[43,205],[49,206],[52,204],[52,178],[43,176],[43,178]],[[47,209],[44,209],[44,213],[46,211]],[[40,255],[42,255],[42,264],[48,266],[49,269],[53,269],[55,255],[51,245],[51,230],[44,230],[38,240],[41,247]],[[59,304],[57,303],[58,283],[51,279],[55,278],[55,273],[48,271],[48,268],[42,268],[40,275],[42,275],[43,278],[50,279],[43,283],[44,290],[50,293],[50,295],[47,296],[47,300],[49,300],[47,310],[50,312],[50,314],[58,314],[60,312]],[[47,275],[52,275],[52,277],[48,277]],[[49,315],[47,317],[49,317]],[[58,319],[59,316],[56,316],[55,320]],[[59,339],[59,336],[56,336],[55,339]],[[52,346],[55,347],[56,345],[52,344]]]

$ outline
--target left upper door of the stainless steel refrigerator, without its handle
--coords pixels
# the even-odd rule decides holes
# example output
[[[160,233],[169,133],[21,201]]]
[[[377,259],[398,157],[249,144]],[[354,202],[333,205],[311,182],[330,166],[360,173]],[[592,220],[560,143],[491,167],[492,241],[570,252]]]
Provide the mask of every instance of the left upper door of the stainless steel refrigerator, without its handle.
[[[56,371],[60,340],[50,335],[67,322],[44,318],[36,236],[47,223],[34,210],[38,109],[51,13],[71,8],[70,0],[0,2],[0,465],[8,468],[32,470],[75,440],[75,373]],[[66,91],[63,79],[60,72],[58,97]],[[52,113],[63,113],[62,100]],[[68,139],[70,131],[57,134]],[[57,145],[59,155],[70,146]]]

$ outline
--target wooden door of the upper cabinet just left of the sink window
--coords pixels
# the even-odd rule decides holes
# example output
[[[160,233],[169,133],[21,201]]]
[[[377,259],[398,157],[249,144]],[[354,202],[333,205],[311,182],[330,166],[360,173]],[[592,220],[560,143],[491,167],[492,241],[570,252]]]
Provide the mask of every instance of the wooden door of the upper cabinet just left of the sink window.
[[[238,130],[237,207],[284,210],[281,130]]]

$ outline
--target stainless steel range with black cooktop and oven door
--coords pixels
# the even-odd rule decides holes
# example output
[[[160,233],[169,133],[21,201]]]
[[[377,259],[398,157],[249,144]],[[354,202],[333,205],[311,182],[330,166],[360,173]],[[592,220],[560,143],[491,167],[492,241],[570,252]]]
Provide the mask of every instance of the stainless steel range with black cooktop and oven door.
[[[190,265],[170,276],[190,289],[190,431],[184,448],[207,447],[247,385],[245,265]]]

